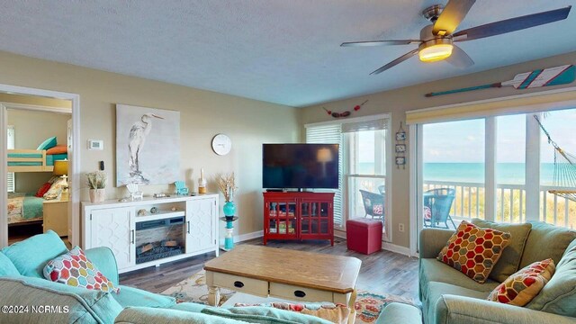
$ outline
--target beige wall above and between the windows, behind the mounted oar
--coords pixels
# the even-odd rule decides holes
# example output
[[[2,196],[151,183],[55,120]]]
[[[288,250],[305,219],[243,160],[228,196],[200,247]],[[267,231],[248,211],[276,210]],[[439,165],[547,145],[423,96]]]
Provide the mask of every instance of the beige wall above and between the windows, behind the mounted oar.
[[[421,85],[413,85],[385,91],[376,94],[367,94],[356,98],[347,100],[340,100],[331,103],[322,103],[310,107],[303,108],[301,113],[302,124],[330,121],[333,120],[323,109],[333,112],[352,111],[352,108],[359,103],[369,100],[362,109],[358,112],[353,112],[351,117],[366,116],[377,113],[389,112],[392,114],[392,132],[399,129],[401,121],[405,121],[405,112],[414,109],[436,107],[451,103],[466,103],[476,100],[498,98],[514,94],[527,94],[529,92],[551,90],[558,87],[573,86],[572,85],[556,85],[542,88],[535,88],[530,90],[516,90],[513,87],[493,88],[486,90],[479,90],[461,94],[447,94],[442,96],[427,98],[424,94],[437,91],[445,91],[457,89],[473,85],[491,84],[500,81],[512,79],[515,75],[522,72],[532,71],[537,68],[555,67],[563,64],[573,64],[576,61],[576,52],[564,54],[552,58],[538,59],[521,63],[509,67],[499,67],[474,73],[468,76],[458,76],[436,82],[430,82]],[[424,64],[417,59],[410,59],[404,64]],[[445,63],[438,63],[445,64]],[[455,68],[446,64],[446,68]],[[378,76],[366,77],[391,77],[394,74],[393,68]],[[406,129],[406,128],[405,128]],[[302,129],[303,132],[303,129]],[[302,133],[303,134],[303,133]],[[303,135],[302,135],[303,136]],[[410,205],[409,205],[409,172],[410,165],[406,169],[392,168],[392,243],[401,247],[410,246]],[[388,192],[388,190],[387,190]],[[398,231],[398,224],[404,223],[406,230],[404,232]]]

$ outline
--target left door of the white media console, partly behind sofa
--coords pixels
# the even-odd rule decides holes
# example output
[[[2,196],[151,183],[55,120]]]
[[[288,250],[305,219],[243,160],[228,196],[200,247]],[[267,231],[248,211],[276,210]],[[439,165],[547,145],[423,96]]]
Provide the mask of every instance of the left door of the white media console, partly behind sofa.
[[[90,247],[110,247],[119,270],[136,265],[133,208],[93,210],[89,219]]]

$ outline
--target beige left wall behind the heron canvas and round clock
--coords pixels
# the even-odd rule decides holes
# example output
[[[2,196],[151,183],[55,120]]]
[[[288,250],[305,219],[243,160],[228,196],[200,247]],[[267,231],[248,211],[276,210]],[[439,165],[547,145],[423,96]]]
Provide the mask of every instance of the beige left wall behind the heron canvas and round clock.
[[[235,226],[238,234],[262,230],[262,143],[300,140],[297,110],[283,105],[6,52],[0,52],[0,70],[2,84],[80,94],[82,200],[88,199],[85,173],[96,170],[101,160],[105,162],[110,179],[106,190],[108,198],[126,195],[124,188],[114,188],[115,103],[181,112],[182,177],[195,190],[203,167],[210,179],[208,189],[214,192],[216,186],[212,176],[220,172],[236,173],[239,191],[235,201],[240,219]],[[211,150],[211,138],[220,132],[232,139],[232,151],[224,157]],[[103,139],[103,151],[88,151],[87,139]],[[169,190],[174,190],[174,185],[147,186],[144,193]]]

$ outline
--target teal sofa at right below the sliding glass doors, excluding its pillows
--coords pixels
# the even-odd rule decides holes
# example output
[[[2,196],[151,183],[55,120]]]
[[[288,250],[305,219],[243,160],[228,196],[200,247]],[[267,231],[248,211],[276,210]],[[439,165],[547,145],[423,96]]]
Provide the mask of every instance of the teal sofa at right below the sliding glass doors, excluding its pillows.
[[[511,243],[484,284],[437,261],[454,230],[420,232],[419,297],[426,324],[576,323],[576,231],[540,221],[500,224],[474,219],[473,223],[512,234]],[[549,257],[554,259],[556,271],[532,302],[518,307],[486,300],[509,275]]]

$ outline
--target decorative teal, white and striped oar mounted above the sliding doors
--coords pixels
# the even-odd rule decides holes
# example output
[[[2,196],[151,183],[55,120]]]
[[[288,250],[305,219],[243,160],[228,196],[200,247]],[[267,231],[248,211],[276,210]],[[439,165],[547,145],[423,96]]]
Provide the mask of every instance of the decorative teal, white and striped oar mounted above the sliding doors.
[[[527,89],[548,85],[565,85],[572,83],[575,78],[576,67],[574,67],[572,64],[568,64],[560,67],[548,67],[544,69],[537,69],[532,72],[520,73],[514,76],[512,80],[497,82],[491,85],[477,85],[462,89],[429,93],[425,95],[427,97],[431,97],[443,94],[457,94],[466,91],[488,89],[491,87],[502,87],[506,85],[512,85],[517,89]]]

